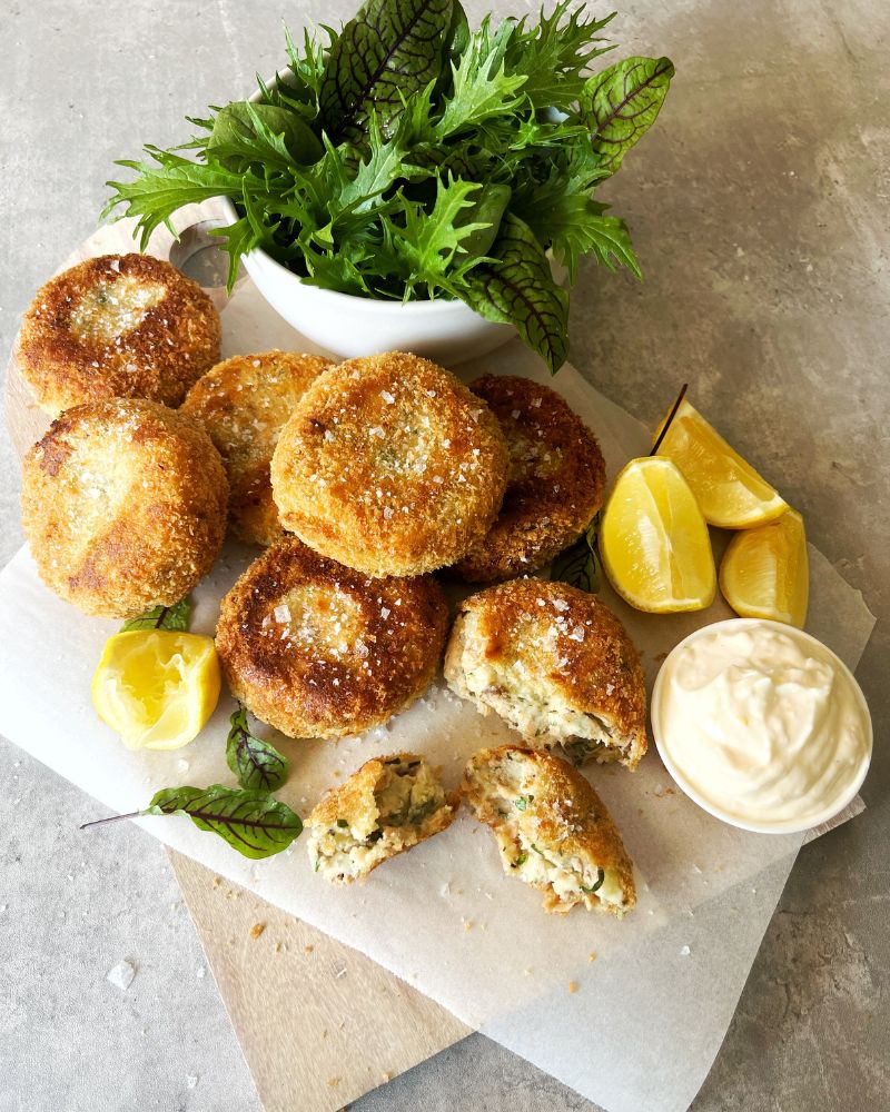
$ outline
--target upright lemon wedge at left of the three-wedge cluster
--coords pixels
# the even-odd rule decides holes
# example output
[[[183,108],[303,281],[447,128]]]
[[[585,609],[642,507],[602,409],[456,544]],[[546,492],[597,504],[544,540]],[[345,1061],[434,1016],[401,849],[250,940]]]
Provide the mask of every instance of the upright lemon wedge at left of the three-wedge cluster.
[[[600,555],[612,586],[639,610],[701,610],[714,599],[708,525],[670,459],[632,459],[615,479],[600,523]]]

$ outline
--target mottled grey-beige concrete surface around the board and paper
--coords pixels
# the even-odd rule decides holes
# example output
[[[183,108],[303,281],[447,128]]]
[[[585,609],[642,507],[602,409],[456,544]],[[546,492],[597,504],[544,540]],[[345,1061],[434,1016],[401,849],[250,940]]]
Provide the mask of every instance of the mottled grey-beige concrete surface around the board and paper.
[[[180,141],[186,112],[269,73],[283,16],[350,7],[0,4],[4,359],[33,290],[92,229],[112,160]],[[690,379],[880,619],[860,668],[869,811],[803,851],[694,1108],[887,1108],[890,9],[632,0],[612,29],[627,52],[670,53],[679,77],[609,189],[646,280],[584,269],[572,359],[649,421]],[[2,438],[0,479],[6,559],[20,533]],[[160,848],[135,830],[115,850],[78,837],[86,801],[7,743],[0,783],[0,1112],[258,1109]],[[126,993],[106,981],[121,959],[137,969]],[[481,1037],[354,1106],[592,1108]]]

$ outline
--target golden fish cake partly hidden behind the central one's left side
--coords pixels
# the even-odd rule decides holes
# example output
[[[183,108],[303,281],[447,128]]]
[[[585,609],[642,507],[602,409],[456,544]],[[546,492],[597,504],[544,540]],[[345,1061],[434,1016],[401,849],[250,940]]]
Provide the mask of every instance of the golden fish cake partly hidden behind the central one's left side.
[[[271,496],[271,454],[308,385],[330,366],[295,351],[236,355],[199,378],[182,403],[222,456],[229,526],[247,544],[271,545],[285,535]]]

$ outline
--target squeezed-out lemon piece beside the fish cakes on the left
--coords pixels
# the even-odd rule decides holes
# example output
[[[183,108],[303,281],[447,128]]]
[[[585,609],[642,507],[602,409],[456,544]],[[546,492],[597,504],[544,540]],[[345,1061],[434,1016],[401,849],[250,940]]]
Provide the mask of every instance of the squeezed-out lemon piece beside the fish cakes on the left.
[[[136,629],[106,642],[92,704],[128,748],[178,749],[201,732],[219,686],[212,637]]]

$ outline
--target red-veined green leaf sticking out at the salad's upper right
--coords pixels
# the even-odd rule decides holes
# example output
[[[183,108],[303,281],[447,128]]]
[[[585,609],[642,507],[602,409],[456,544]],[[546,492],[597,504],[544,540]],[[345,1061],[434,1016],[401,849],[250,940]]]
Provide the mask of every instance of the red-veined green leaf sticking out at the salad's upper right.
[[[610,173],[655,122],[673,76],[670,58],[625,58],[587,80],[582,115]]]

